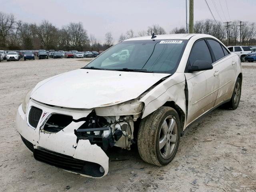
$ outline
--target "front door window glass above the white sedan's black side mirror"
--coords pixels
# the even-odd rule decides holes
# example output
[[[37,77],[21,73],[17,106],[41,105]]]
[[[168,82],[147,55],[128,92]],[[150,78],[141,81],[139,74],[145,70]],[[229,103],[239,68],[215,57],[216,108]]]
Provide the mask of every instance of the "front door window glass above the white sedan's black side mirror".
[[[212,57],[208,46],[204,40],[200,40],[194,44],[188,58],[188,65],[192,66],[196,60],[212,63]]]

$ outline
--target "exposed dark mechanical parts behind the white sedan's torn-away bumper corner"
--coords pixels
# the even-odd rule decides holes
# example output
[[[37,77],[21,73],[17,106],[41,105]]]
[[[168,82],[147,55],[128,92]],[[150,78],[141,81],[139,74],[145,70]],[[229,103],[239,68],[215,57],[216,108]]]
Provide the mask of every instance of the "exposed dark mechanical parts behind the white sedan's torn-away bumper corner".
[[[134,122],[132,116],[97,116],[92,111],[77,130],[74,130],[77,139],[89,140],[103,150],[118,146],[130,150],[134,142]]]

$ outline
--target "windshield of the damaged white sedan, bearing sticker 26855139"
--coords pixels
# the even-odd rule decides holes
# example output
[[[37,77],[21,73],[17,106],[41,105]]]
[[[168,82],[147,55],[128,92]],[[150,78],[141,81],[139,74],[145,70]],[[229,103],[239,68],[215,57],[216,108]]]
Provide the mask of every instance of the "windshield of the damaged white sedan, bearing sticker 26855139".
[[[188,40],[136,40],[116,44],[86,68],[136,69],[173,74]]]

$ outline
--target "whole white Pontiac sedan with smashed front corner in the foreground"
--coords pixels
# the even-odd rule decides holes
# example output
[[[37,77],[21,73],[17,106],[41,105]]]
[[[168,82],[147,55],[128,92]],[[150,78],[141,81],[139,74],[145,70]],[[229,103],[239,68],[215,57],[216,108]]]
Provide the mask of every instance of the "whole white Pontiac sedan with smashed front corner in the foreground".
[[[241,86],[240,58],[213,36],[132,38],[39,82],[18,108],[17,129],[36,160],[83,176],[105,176],[105,151],[136,142],[145,162],[164,166],[192,122],[238,107]]]

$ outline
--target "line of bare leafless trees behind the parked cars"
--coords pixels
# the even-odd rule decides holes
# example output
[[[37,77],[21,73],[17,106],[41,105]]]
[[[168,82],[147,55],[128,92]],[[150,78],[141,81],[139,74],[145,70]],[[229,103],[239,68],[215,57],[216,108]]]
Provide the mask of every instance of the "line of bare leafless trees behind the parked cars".
[[[256,24],[243,22],[240,33],[240,22],[234,21],[226,28],[221,22],[201,20],[194,23],[194,33],[204,33],[215,36],[227,45],[255,45]],[[122,33],[118,42],[138,36],[166,34],[158,24],[148,26],[137,34],[130,29]],[[186,33],[185,27],[174,28],[170,34]],[[228,36],[227,36],[228,34]],[[240,38],[241,37],[241,38]],[[105,34],[105,42],[101,43],[93,34],[88,35],[82,22],[71,22],[62,28],[57,28],[47,20],[33,24],[16,20],[13,14],[0,12],[0,49],[2,50],[106,50],[114,44],[111,32]]]

